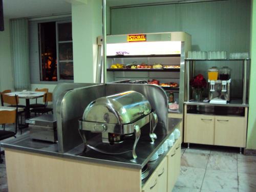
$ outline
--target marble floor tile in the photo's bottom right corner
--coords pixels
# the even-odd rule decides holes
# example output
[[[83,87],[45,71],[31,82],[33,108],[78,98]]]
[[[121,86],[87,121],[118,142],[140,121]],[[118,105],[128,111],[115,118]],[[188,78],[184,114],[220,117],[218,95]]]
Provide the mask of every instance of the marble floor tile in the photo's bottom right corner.
[[[244,174],[238,173],[238,191],[255,192],[256,191],[256,173]]]

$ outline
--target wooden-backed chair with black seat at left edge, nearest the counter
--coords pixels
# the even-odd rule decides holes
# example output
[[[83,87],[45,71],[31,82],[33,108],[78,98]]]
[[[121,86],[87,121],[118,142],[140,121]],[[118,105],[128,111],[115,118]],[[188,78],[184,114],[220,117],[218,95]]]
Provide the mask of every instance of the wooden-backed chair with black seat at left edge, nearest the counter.
[[[12,111],[0,111],[0,124],[10,124],[13,123],[15,127],[15,132],[12,131],[3,131],[0,130],[0,141],[10,138],[10,137],[15,137],[16,138],[16,133],[17,133],[17,118],[16,118],[16,110]],[[1,148],[0,148],[0,163],[3,162],[3,159],[1,158]]]

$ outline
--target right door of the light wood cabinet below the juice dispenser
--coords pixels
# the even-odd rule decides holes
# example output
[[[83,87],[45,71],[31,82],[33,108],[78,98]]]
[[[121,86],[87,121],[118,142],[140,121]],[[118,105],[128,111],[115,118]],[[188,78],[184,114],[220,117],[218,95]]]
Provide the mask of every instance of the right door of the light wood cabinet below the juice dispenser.
[[[245,147],[245,117],[216,116],[215,144],[223,146]]]

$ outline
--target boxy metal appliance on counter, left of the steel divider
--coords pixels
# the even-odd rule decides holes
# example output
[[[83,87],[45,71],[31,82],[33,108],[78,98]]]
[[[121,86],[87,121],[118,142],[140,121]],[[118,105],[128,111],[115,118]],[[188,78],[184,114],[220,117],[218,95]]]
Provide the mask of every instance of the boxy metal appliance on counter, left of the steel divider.
[[[26,120],[29,123],[29,135],[31,139],[42,141],[57,141],[57,121],[53,114],[40,115]]]

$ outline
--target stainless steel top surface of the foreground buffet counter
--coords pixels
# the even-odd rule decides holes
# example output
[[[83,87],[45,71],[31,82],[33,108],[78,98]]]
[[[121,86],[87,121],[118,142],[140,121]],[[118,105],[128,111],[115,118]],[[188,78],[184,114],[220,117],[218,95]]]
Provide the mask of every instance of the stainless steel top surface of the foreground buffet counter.
[[[176,125],[180,123],[181,119],[171,118],[172,124],[169,124],[170,130],[174,130]],[[172,132],[172,131],[171,131]],[[138,158],[133,160],[131,155],[106,155],[94,150],[88,151],[86,154],[81,155],[83,151],[83,144],[75,147],[68,153],[58,153],[58,144],[49,143],[44,141],[32,140],[29,134],[24,134],[23,136],[13,139],[4,143],[1,143],[2,147],[11,148],[13,150],[27,151],[32,153],[50,155],[55,157],[75,159],[81,161],[88,161],[92,163],[108,164],[114,166],[122,166],[129,168],[141,169],[148,160],[156,153],[158,148],[163,144],[163,142],[168,138],[169,135],[160,135],[155,140],[154,144],[145,141],[139,141],[137,144],[136,152]]]

